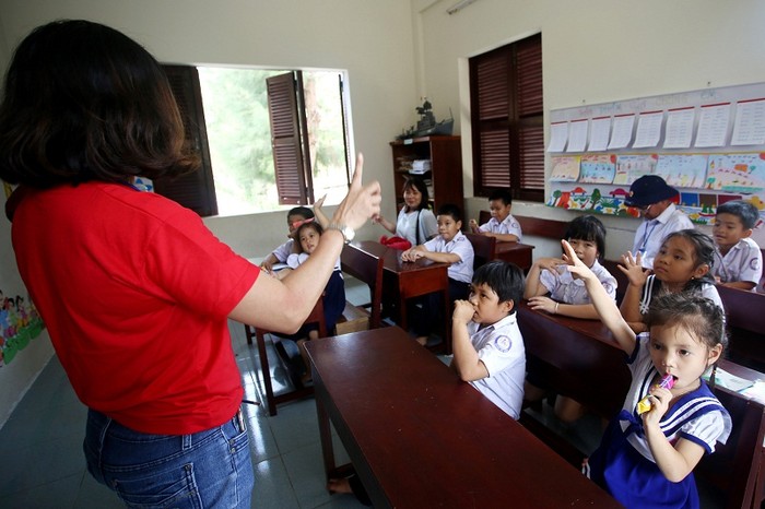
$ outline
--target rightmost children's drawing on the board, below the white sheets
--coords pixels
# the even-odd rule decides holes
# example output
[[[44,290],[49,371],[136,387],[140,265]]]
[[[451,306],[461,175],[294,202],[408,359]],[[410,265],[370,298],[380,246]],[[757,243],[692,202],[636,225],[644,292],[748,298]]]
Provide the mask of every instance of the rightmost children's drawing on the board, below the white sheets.
[[[705,187],[744,193],[765,190],[765,153],[710,154]]]

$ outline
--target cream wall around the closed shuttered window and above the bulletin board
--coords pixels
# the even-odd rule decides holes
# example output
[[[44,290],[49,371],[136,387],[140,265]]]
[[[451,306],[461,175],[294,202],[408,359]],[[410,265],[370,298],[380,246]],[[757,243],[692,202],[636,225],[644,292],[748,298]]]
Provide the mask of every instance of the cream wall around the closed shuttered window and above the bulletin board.
[[[551,109],[765,81],[761,0],[412,0],[416,86],[436,117],[459,109],[464,190],[472,194],[467,59],[542,33],[545,117]],[[438,109],[442,111],[438,111]],[[448,113],[448,110],[447,110]],[[485,200],[466,200],[470,216]],[[575,213],[518,202],[514,213],[570,221]],[[637,220],[600,216],[607,258],[632,247]],[[762,233],[761,233],[762,234]],[[551,251],[552,250],[552,251]],[[534,256],[560,253],[554,242]]]

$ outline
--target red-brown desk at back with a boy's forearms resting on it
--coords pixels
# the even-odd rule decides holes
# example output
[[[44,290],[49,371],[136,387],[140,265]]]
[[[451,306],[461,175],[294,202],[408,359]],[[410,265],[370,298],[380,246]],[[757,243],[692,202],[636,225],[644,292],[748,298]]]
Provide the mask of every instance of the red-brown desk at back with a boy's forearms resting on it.
[[[451,308],[449,306],[449,263],[437,263],[421,258],[415,262],[401,261],[400,249],[390,249],[373,240],[353,242],[353,246],[385,260],[382,271],[382,304],[395,310],[396,322],[408,330],[407,299],[440,292],[444,303],[443,336],[447,354],[451,353]]]

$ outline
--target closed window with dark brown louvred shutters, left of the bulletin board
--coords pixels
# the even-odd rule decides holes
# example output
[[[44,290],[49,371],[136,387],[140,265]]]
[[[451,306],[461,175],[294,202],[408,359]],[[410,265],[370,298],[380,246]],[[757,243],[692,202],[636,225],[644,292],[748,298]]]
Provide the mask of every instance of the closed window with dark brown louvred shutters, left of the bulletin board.
[[[470,59],[473,192],[544,201],[542,36]]]

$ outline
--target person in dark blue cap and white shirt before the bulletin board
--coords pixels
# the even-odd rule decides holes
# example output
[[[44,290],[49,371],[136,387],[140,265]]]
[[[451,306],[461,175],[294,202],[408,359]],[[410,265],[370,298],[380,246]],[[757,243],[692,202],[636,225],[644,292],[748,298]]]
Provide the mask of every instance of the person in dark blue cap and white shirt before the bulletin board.
[[[643,254],[642,264],[654,268],[654,258],[661,248],[666,236],[680,229],[693,228],[693,223],[675,206],[679,192],[658,175],[644,175],[629,186],[629,196],[624,200],[627,206],[640,211],[644,221],[635,232],[632,252]]]

